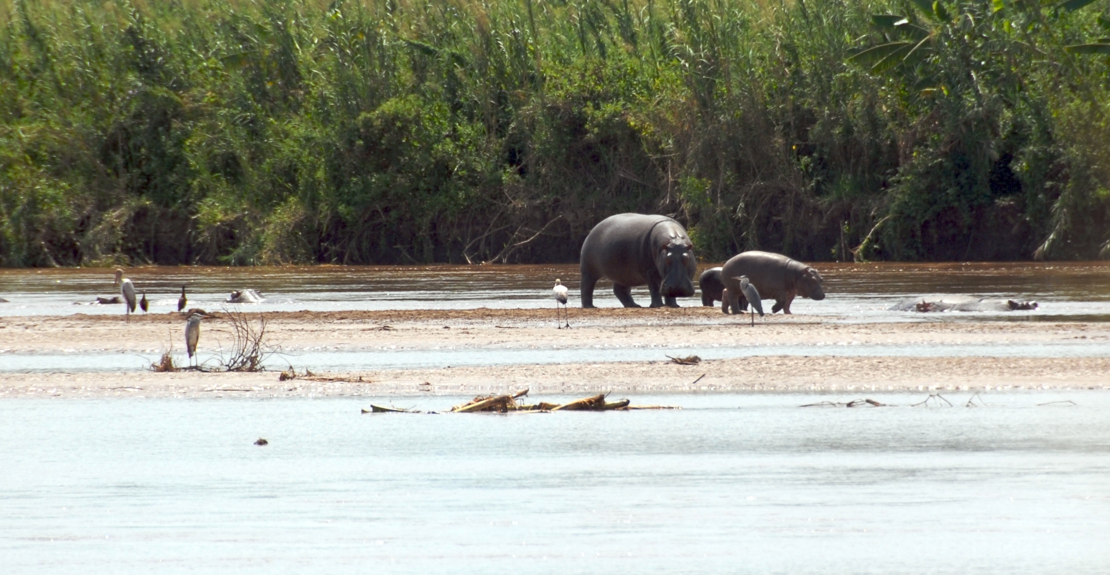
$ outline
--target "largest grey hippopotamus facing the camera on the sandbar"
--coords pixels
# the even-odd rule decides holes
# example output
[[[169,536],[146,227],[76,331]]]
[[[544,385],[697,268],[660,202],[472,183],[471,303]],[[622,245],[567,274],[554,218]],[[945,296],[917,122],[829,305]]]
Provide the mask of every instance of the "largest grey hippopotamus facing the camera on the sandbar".
[[[647,284],[652,307],[694,295],[697,261],[686,229],[666,215],[619,213],[589,231],[582,243],[582,306],[594,306],[594,285],[606,278],[625,307],[639,307],[632,288]]]

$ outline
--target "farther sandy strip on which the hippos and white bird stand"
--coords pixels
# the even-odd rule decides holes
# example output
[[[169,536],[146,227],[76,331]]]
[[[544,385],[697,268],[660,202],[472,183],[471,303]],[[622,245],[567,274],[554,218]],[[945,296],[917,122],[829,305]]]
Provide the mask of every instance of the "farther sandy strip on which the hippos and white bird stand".
[[[937,315],[939,316],[939,314]],[[269,341],[284,350],[434,350],[475,347],[592,347],[604,345],[744,345],[750,343],[997,344],[1107,341],[1110,324],[1002,321],[844,323],[826,316],[767,315],[748,325],[747,315],[707,307],[677,310],[572,310],[571,330],[556,330],[554,310],[447,310],[374,312],[275,312],[265,315]],[[0,319],[6,353],[159,352],[182,347],[184,320],[178,313],[132,316],[68,315]],[[230,341],[221,319],[202,324],[200,350]],[[663,357],[660,351],[660,359]],[[311,365],[307,367],[312,367]]]

